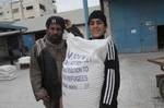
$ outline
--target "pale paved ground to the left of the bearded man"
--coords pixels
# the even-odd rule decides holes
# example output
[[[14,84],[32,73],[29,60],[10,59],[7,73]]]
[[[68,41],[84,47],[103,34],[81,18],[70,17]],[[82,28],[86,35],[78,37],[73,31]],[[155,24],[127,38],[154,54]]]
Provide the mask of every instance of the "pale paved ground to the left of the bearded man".
[[[19,70],[12,81],[0,81],[0,108],[44,108],[33,96],[28,70]]]

